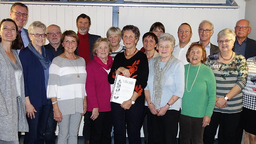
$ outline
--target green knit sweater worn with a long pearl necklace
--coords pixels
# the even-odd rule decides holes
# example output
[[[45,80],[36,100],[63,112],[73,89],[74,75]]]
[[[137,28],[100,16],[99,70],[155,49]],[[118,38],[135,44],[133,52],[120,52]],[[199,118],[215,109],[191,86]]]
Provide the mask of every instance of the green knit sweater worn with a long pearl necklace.
[[[186,89],[187,73],[189,64],[185,65],[185,92],[182,98],[181,114],[191,117],[202,118],[205,115],[211,117],[216,102],[216,80],[211,68],[201,64],[196,81],[198,66],[190,66],[188,84]]]

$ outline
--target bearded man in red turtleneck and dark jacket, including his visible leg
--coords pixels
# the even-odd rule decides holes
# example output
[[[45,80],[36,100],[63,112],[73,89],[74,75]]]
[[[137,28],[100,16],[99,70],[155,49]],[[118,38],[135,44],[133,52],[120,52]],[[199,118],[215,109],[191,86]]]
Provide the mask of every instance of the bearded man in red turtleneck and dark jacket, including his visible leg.
[[[94,58],[92,48],[95,41],[101,36],[89,34],[91,26],[91,18],[86,14],[81,14],[76,19],[76,26],[78,29],[77,35],[79,44],[76,49],[78,56],[84,58],[86,65]],[[85,97],[86,98],[86,97]],[[90,117],[88,113],[84,114],[84,127],[83,127],[84,143],[89,144],[90,140]]]

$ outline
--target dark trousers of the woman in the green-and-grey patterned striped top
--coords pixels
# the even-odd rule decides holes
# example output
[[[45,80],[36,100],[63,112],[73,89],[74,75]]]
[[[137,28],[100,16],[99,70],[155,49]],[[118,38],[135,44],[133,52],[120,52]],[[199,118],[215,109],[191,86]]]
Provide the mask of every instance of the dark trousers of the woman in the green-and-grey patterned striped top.
[[[213,144],[214,137],[218,132],[219,144],[235,144],[236,132],[240,121],[241,112],[221,113],[213,112],[210,125],[204,129],[203,141],[205,144]]]

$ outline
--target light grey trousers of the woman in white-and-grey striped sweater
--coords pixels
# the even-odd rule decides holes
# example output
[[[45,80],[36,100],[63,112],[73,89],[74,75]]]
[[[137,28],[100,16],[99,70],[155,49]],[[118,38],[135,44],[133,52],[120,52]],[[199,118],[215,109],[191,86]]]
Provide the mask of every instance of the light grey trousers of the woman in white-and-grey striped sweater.
[[[63,120],[58,123],[59,135],[57,144],[77,144],[77,135],[81,122],[81,113],[63,115]]]

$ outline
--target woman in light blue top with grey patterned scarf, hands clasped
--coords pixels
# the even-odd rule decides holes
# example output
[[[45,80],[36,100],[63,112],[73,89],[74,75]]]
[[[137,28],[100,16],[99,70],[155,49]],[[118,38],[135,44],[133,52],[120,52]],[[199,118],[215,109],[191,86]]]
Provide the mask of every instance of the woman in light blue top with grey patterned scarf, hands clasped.
[[[162,34],[157,44],[160,57],[149,60],[145,105],[150,144],[176,143],[185,80],[183,63],[172,55],[174,46],[174,37]]]

